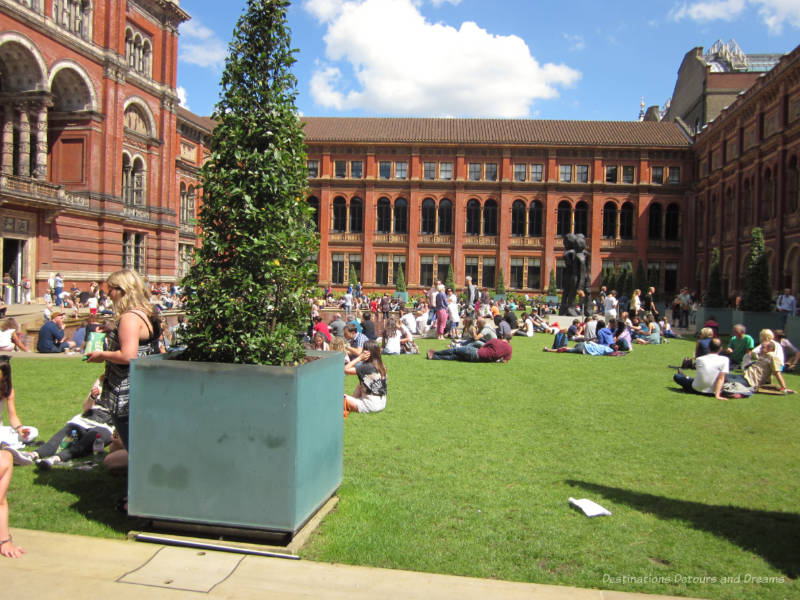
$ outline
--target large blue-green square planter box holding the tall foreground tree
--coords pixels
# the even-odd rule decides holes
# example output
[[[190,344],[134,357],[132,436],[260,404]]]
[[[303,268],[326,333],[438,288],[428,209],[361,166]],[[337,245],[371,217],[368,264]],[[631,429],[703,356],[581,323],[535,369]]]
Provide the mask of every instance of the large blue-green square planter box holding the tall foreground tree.
[[[309,355],[132,361],[129,514],[296,533],[342,481],[342,355]]]

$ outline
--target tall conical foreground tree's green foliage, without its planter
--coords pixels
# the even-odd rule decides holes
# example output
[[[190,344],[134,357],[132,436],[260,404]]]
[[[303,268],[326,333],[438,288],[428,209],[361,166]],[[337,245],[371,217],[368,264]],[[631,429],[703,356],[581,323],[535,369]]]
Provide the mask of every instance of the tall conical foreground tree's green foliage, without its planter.
[[[287,0],[248,0],[203,165],[202,246],[183,281],[188,360],[296,364],[317,281]]]

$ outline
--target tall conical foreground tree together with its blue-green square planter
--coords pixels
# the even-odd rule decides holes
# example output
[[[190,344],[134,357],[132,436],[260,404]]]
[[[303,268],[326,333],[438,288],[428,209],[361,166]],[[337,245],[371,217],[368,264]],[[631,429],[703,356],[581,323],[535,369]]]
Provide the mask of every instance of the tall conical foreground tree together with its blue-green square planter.
[[[133,361],[129,512],[295,533],[342,476],[338,353],[309,356],[317,280],[287,0],[248,0],[202,169],[186,350]]]

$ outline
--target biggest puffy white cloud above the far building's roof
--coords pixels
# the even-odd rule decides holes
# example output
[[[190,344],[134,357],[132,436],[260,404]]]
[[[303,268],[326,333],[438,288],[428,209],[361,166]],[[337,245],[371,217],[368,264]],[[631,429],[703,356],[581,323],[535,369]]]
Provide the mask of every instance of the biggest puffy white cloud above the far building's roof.
[[[314,101],[377,114],[527,116],[580,73],[539,64],[522,38],[473,22],[428,22],[416,0],[306,0],[327,26],[326,63],[311,78]],[[352,78],[345,75],[352,72]]]

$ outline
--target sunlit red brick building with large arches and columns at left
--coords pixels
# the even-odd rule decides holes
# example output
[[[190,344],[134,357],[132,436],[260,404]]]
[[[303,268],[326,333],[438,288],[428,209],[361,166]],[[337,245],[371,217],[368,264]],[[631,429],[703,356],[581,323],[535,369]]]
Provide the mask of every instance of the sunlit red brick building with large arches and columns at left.
[[[177,0],[1,0],[4,272],[174,281],[207,120],[178,109]]]

